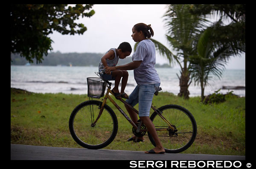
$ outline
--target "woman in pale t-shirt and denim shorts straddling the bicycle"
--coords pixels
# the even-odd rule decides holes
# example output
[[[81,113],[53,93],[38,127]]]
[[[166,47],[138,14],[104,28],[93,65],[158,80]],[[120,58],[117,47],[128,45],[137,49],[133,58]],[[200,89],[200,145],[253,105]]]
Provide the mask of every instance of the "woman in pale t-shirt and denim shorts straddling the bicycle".
[[[132,39],[135,42],[139,42],[132,56],[133,62],[126,65],[120,65],[116,67],[107,67],[105,73],[110,74],[113,70],[134,70],[134,79],[137,82],[137,86],[134,91],[126,100],[131,106],[135,106],[139,103],[139,117],[148,129],[148,132],[154,138],[156,147],[145,153],[164,153],[165,150],[157,136],[154,124],[149,118],[149,112],[152,104],[154,92],[157,87],[160,86],[160,78],[157,71],[154,68],[156,62],[154,43],[148,39],[154,36],[154,31],[151,25],[145,23],[138,23],[132,28]],[[125,106],[128,111],[131,120],[137,124],[137,113]],[[129,138],[127,141],[134,141],[136,136]],[[144,141],[143,137],[139,137],[137,141]]]

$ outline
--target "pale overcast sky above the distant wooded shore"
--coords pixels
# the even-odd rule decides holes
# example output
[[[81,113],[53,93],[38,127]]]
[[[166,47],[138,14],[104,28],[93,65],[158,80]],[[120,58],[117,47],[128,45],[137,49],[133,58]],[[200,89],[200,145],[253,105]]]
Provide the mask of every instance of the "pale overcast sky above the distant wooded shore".
[[[76,23],[83,23],[87,31],[83,35],[62,35],[58,32],[50,34],[52,52],[61,53],[105,53],[110,48],[117,48],[121,42],[129,42],[134,53],[135,42],[131,38],[132,27],[137,23],[151,24],[154,37],[163,45],[169,47],[165,34],[164,18],[166,5],[125,5],[125,4],[96,4],[92,8],[95,14],[88,18],[80,18]],[[169,47],[172,52],[171,47]],[[132,55],[131,54],[131,55]],[[167,59],[156,54],[157,63],[168,63]],[[226,69],[245,69],[245,54],[241,57],[233,57],[227,64]]]

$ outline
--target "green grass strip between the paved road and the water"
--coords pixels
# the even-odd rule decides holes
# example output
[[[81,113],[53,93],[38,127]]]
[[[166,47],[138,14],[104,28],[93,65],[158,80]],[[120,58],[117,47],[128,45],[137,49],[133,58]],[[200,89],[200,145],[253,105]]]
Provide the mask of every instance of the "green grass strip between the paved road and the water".
[[[87,95],[30,93],[11,88],[11,144],[82,148],[71,137],[68,121],[72,110],[87,100]],[[160,92],[154,96],[153,103],[156,107],[181,105],[195,117],[197,137],[182,153],[245,155],[245,98],[228,98],[220,104],[205,105],[200,97],[184,100],[172,93]],[[110,101],[107,104],[116,113],[119,128],[116,138],[105,149],[145,151],[153,148],[147,136],[143,143],[127,142],[132,136],[131,124]],[[119,106],[126,112],[122,104]]]

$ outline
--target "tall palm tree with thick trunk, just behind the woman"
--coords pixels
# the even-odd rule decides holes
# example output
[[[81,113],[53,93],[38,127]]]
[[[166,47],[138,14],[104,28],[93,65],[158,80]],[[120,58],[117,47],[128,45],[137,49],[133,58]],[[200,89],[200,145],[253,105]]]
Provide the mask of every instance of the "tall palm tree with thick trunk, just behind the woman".
[[[172,52],[157,40],[151,39],[156,49],[162,55],[166,55],[169,62],[177,62],[180,66],[180,93],[178,96],[183,96],[184,99],[189,99],[189,85],[191,83],[190,73],[188,70],[188,58],[196,54],[195,45],[198,41],[198,34],[201,28],[204,28],[204,23],[207,22],[205,17],[192,15],[189,12],[189,4],[169,5],[164,17],[166,17],[166,27],[168,33],[166,38],[169,44],[177,51],[174,55]]]

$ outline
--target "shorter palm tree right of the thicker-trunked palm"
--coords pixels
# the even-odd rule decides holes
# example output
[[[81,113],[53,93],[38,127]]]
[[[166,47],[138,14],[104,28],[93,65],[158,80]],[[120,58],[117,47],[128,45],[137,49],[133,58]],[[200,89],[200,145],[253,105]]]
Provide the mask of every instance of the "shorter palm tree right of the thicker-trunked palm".
[[[233,55],[230,45],[215,45],[212,34],[213,28],[207,28],[198,40],[197,55],[189,57],[192,79],[201,86],[201,101],[204,101],[204,88],[210,78],[209,74],[220,79],[227,60]]]

